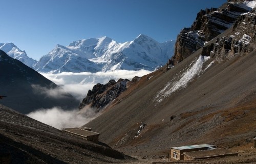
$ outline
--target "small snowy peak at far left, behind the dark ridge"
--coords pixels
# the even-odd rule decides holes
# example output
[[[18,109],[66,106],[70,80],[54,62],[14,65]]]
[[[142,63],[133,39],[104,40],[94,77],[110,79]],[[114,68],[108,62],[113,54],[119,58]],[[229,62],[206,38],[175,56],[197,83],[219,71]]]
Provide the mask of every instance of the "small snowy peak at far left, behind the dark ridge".
[[[29,58],[25,50],[20,50],[13,43],[0,43],[0,49],[5,51],[10,57],[23,62],[25,65],[33,68],[36,64],[36,60]]]

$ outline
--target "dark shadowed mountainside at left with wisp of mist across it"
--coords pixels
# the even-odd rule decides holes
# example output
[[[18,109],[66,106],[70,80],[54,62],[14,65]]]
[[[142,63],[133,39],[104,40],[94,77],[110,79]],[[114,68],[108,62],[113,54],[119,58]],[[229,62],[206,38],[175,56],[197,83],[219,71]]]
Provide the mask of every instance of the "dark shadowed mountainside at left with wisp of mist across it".
[[[79,102],[59,86],[0,50],[1,104],[28,114],[38,108],[75,108]]]

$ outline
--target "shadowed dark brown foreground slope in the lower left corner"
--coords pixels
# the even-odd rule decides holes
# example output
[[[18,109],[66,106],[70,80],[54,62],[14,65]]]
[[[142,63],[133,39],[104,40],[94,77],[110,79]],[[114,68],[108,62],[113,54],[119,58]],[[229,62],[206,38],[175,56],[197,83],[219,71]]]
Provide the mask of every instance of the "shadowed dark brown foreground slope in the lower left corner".
[[[121,163],[132,159],[3,105],[0,105],[0,153],[11,156],[13,163]]]

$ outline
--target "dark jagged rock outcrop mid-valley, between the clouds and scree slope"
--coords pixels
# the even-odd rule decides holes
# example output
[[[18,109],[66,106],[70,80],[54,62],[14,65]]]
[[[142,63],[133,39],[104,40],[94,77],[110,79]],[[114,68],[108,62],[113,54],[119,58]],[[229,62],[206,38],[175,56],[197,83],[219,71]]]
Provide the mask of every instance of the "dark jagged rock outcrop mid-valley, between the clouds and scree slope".
[[[128,81],[130,80],[120,78],[117,82],[112,79],[105,85],[95,85],[92,90],[88,91],[87,97],[82,100],[79,109],[90,105],[90,107],[96,108],[96,113],[99,112],[126,90]]]

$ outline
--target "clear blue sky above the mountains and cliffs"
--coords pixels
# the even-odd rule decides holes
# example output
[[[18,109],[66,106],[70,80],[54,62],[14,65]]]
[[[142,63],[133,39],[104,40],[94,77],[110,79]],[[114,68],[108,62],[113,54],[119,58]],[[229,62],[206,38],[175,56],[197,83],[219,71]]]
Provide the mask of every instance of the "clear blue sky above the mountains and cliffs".
[[[201,9],[226,0],[8,0],[1,4],[0,43],[13,42],[38,60],[56,44],[108,36],[117,42],[145,34],[176,39]]]

